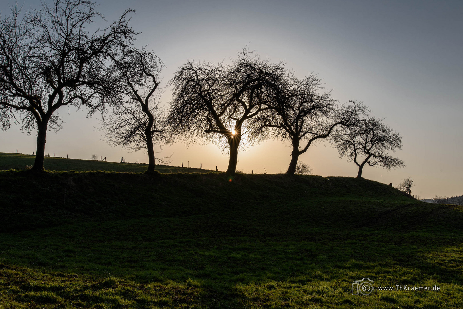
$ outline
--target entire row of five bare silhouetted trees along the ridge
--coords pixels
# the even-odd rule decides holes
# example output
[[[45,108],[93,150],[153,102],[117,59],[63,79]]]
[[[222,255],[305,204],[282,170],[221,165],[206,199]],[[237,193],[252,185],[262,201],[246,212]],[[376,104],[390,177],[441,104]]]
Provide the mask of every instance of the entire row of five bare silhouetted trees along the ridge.
[[[63,106],[100,113],[110,145],[148,153],[155,170],[154,145],[178,140],[213,143],[229,155],[227,175],[236,172],[238,152],[266,139],[291,143],[287,174],[308,173],[301,154],[328,141],[358,167],[403,167],[389,151],[401,137],[362,101],[332,98],[315,74],[300,79],[285,63],[271,63],[242,50],[231,63],[187,61],[170,79],[169,109],[160,106],[164,63],[134,45],[136,32],[127,10],[106,28],[89,32],[103,16],[88,0],[55,0],[21,13],[15,7],[0,20],[0,124],[37,129],[32,170],[43,170],[46,133],[61,129]]]

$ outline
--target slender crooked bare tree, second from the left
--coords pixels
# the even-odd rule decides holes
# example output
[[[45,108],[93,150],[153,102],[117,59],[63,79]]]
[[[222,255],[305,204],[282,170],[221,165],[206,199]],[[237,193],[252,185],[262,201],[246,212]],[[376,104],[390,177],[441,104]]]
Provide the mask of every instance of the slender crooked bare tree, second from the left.
[[[113,57],[114,70],[125,84],[125,104],[104,121],[106,141],[135,151],[148,152],[147,173],[155,171],[154,145],[163,143],[164,114],[159,106],[159,73],[164,63],[151,51],[124,46],[119,57]]]

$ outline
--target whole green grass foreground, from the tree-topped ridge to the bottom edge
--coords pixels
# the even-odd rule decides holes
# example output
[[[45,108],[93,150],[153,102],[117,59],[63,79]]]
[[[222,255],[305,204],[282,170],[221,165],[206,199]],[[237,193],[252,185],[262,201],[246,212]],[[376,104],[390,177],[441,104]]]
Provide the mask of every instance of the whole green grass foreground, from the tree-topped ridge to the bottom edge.
[[[0,308],[462,308],[461,206],[329,179],[1,171]]]

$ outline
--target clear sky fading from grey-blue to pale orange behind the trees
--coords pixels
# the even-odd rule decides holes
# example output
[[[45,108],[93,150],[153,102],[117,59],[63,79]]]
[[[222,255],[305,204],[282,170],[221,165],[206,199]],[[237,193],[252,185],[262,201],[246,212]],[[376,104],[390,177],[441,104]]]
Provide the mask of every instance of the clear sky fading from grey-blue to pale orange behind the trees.
[[[24,7],[39,3],[25,1]],[[11,5],[2,1],[2,16]],[[403,136],[397,155],[407,167],[365,167],[363,177],[394,186],[412,177],[413,194],[423,198],[463,194],[463,1],[100,1],[108,20],[125,8],[137,11],[131,22],[142,32],[136,44],[167,66],[163,86],[188,59],[229,61],[249,44],[261,57],[284,60],[299,77],[318,73],[335,99],[363,100]],[[162,102],[167,106],[169,99],[166,88]],[[96,118],[72,108],[59,112],[66,123],[48,133],[45,153],[148,161],[143,151],[105,144]],[[0,132],[0,151],[32,153],[35,139],[12,126]],[[226,170],[228,164],[213,145],[159,151],[171,155],[172,165]],[[250,147],[238,155],[238,170],[285,172],[290,152],[279,141]],[[300,160],[315,175],[357,175],[355,164],[338,158],[328,143],[311,146]]]

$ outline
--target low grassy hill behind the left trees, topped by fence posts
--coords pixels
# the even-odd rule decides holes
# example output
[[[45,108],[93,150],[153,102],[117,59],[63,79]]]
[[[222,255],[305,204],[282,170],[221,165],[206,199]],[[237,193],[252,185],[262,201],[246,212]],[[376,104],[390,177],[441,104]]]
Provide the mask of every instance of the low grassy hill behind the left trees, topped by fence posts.
[[[0,170],[25,170],[27,169],[26,165],[34,165],[34,160],[35,156],[32,155],[0,152]],[[148,169],[148,164],[45,157],[44,168],[46,170],[54,171],[106,170],[115,172],[143,173]],[[211,171],[164,164],[156,164],[156,170],[160,173],[207,173]]]

